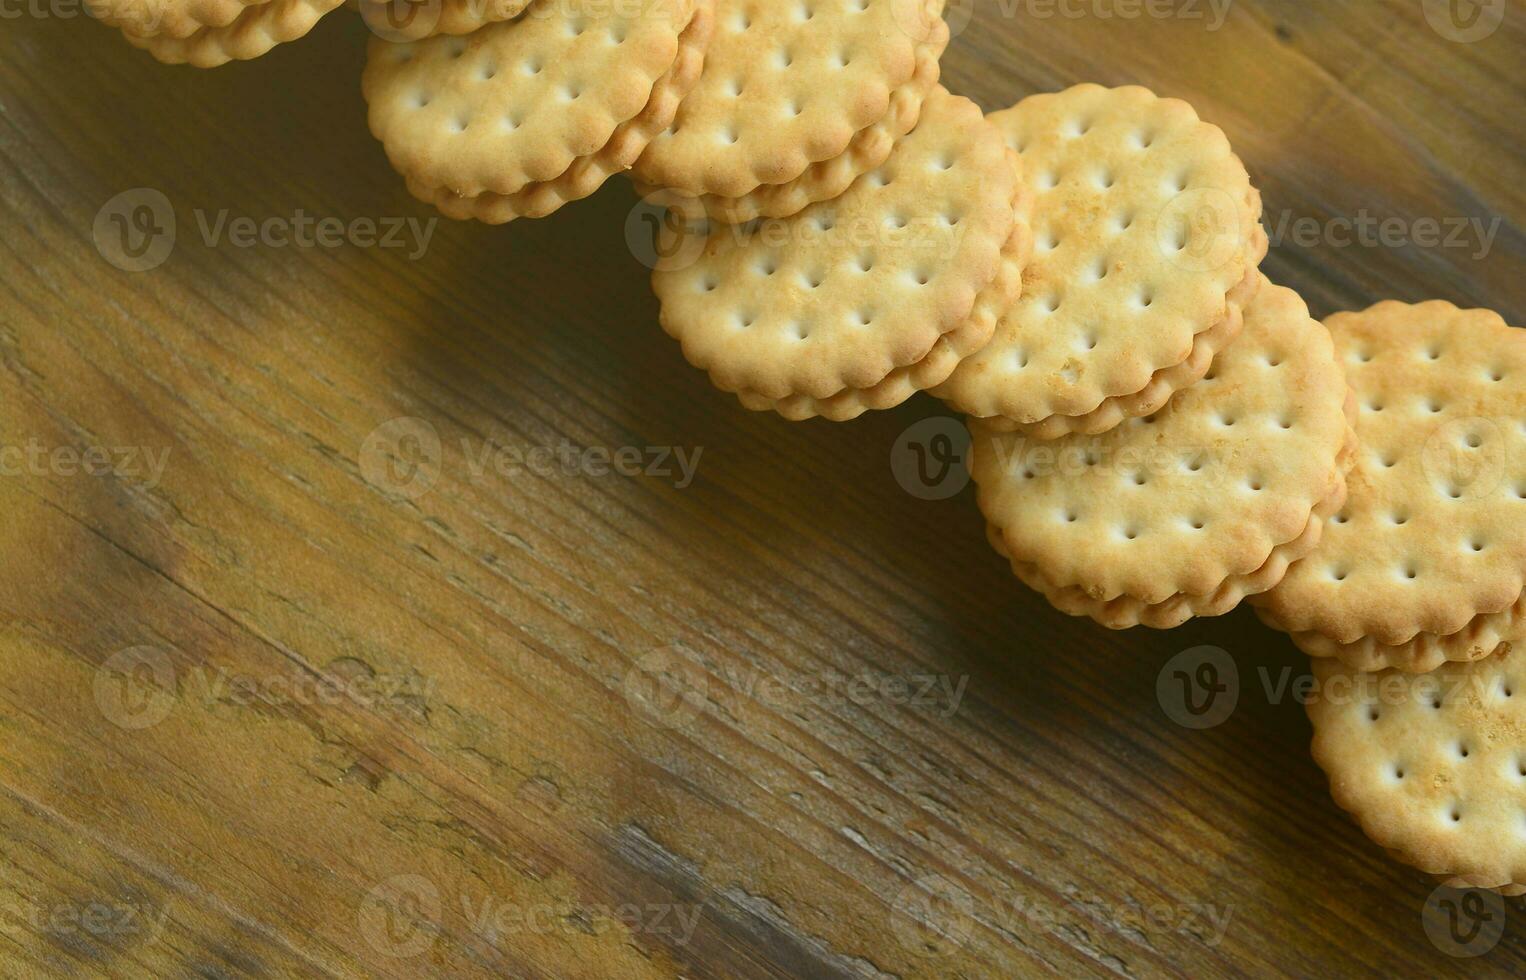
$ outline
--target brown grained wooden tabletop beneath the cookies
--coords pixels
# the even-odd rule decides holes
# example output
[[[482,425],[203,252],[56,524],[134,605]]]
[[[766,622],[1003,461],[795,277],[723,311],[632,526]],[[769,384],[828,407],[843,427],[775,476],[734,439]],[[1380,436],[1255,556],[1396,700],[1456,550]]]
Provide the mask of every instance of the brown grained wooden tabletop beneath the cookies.
[[[1521,324],[1506,6],[1459,43],[1421,0],[1241,0],[1218,31],[990,0],[945,81],[1189,98],[1274,235],[1497,217],[1485,256],[1289,224],[1267,269],[1317,314]],[[1050,611],[969,490],[897,482],[926,397],[787,424],[713,391],[656,327],[624,182],[441,221],[423,256],[209,244],[198,209],[427,221],[366,133],[362,24],[195,72],[69,9],[0,34],[0,446],[35,447],[0,456],[0,972],[1526,969],[1518,899],[1483,959],[1427,939],[1431,884],[1331,804],[1276,696],[1306,662],[1248,612]],[[93,241],[134,188],[179,229],[140,273]],[[581,472],[522,455],[563,441]],[[659,446],[691,482],[600,472]],[[1199,644],[1241,678],[1209,730],[1157,698]]]

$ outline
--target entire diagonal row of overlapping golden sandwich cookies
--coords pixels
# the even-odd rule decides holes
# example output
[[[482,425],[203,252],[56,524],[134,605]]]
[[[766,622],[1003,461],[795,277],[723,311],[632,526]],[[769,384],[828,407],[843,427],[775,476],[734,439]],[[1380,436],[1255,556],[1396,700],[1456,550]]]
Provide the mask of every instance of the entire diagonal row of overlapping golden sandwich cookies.
[[[218,64],[337,0],[96,5]],[[1114,629],[1250,598],[1317,658],[1337,801],[1444,881],[1526,891],[1526,334],[1450,304],[1315,322],[1257,269],[1221,130],[1138,87],[983,116],[938,85],[943,0],[354,6],[412,194],[502,223],[629,172],[671,212],[662,327],[719,388],[792,420],[931,391],[1022,582]]]

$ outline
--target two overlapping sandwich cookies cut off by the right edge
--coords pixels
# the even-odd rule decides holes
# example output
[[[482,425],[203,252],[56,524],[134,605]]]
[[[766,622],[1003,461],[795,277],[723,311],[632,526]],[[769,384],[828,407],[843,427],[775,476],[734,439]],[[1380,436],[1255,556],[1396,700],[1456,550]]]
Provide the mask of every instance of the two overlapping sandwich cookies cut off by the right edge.
[[[1361,450],[1256,609],[1315,658],[1335,801],[1450,884],[1526,893],[1526,333],[1447,302],[1328,325]]]

